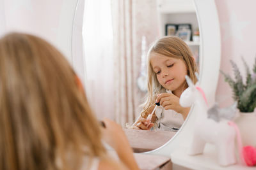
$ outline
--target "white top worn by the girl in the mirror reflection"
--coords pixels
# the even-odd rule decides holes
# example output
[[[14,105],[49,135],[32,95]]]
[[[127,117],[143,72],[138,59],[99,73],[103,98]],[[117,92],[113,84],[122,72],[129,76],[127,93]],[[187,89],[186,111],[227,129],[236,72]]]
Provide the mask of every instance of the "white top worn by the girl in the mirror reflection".
[[[166,90],[172,93],[170,90]],[[156,108],[156,128],[160,131],[178,131],[184,123],[184,118],[174,110],[164,110],[163,106]]]

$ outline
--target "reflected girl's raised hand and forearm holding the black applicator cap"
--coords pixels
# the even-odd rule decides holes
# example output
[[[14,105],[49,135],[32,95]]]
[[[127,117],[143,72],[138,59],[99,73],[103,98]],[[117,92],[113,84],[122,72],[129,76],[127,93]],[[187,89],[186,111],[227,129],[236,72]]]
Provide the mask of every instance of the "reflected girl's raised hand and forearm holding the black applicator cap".
[[[163,106],[164,110],[174,110],[181,113],[184,119],[188,116],[190,108],[183,108],[180,106],[180,98],[170,93],[162,93],[157,95],[156,103]]]

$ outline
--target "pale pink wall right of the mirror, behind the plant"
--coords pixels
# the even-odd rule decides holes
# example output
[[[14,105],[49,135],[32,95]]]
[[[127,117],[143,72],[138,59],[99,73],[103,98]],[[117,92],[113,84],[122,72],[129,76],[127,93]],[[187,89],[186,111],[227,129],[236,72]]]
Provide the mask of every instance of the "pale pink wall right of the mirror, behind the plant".
[[[256,56],[256,1],[216,0],[221,26],[221,67],[225,73],[232,74],[230,59],[236,62],[244,77],[241,56],[252,68]],[[221,106],[233,103],[232,91],[222,74],[219,76],[216,101]]]

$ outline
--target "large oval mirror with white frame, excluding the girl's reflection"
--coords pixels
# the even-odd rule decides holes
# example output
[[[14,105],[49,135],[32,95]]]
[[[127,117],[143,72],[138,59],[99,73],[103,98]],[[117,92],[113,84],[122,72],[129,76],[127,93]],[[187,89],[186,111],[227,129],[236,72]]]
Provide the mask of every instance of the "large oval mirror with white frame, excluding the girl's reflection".
[[[147,94],[148,45],[166,35],[179,36],[191,49],[200,67],[200,87],[212,104],[220,67],[220,27],[214,0],[77,2],[72,64],[97,117],[121,124],[134,152],[170,156],[193,129],[198,110],[193,106],[174,131],[126,128],[140,116],[140,104]]]

